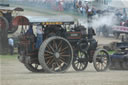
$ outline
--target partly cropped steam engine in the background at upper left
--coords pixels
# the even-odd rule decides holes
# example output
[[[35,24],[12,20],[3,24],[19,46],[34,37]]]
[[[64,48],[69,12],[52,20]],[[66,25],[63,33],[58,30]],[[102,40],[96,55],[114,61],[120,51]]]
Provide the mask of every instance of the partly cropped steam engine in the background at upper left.
[[[0,28],[0,32],[2,30],[8,31],[9,34],[16,32],[18,27],[13,26],[12,21],[21,11],[24,11],[24,9],[9,7],[9,4],[0,4],[0,24],[6,23],[5,29]]]

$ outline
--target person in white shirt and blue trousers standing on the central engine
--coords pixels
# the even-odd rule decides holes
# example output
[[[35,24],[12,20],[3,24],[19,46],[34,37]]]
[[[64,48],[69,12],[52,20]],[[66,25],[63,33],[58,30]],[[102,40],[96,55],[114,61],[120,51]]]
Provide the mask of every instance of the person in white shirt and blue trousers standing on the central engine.
[[[43,32],[42,25],[37,25],[36,32],[37,32],[36,48],[39,48],[43,42],[43,33],[44,32]]]

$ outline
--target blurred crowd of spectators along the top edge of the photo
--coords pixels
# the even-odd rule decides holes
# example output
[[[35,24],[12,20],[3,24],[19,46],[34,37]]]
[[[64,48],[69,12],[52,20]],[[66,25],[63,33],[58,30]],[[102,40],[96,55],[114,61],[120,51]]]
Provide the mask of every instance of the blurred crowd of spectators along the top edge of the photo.
[[[96,9],[85,0],[8,0],[15,4],[23,4],[30,7],[49,8],[56,11],[76,12],[79,15],[87,15],[88,12],[96,13]]]

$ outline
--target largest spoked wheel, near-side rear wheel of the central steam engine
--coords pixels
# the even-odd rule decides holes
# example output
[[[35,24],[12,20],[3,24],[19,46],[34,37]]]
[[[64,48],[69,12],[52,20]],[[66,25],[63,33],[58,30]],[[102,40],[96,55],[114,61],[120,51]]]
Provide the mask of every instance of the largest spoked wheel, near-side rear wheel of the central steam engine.
[[[73,50],[66,39],[53,36],[42,43],[38,57],[46,72],[64,72],[72,63]]]

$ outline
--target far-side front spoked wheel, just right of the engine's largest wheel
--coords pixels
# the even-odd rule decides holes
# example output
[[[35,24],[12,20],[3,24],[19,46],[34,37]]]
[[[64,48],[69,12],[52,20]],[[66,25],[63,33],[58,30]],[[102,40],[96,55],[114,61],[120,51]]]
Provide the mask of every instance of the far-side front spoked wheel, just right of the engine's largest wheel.
[[[86,53],[78,51],[77,56],[73,58],[72,67],[76,71],[83,71],[88,65],[88,56]]]

